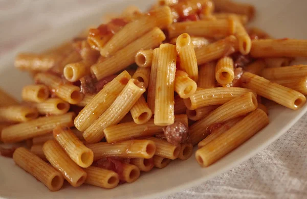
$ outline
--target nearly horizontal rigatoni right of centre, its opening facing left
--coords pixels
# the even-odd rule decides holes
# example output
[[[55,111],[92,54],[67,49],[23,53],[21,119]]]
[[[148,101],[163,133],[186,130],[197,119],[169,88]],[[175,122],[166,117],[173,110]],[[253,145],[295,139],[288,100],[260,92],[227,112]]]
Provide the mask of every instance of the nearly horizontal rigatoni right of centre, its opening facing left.
[[[187,109],[195,110],[206,106],[225,104],[231,99],[251,91],[251,89],[238,87],[199,88],[189,98],[184,99],[184,103]]]

